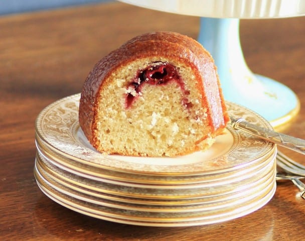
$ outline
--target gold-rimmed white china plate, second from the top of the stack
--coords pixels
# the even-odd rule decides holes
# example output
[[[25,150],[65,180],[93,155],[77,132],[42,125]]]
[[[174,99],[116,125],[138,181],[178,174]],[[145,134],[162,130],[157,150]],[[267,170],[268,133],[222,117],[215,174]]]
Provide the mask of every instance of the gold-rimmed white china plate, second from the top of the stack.
[[[45,159],[48,159],[49,162],[54,164],[55,166],[66,170],[68,172],[74,173],[79,176],[88,177],[94,180],[116,180],[122,182],[128,182],[133,185],[133,183],[140,183],[141,185],[151,185],[151,184],[159,184],[159,185],[185,185],[185,184],[203,184],[212,182],[227,182],[227,180],[242,180],[247,177],[247,175],[251,175],[255,170],[258,170],[266,160],[272,156],[276,155],[276,148],[272,149],[271,152],[267,153],[267,155],[260,157],[252,162],[250,165],[245,165],[244,167],[240,167],[236,170],[231,170],[230,172],[223,173],[215,173],[209,175],[145,175],[140,173],[125,173],[125,172],[116,172],[113,170],[107,170],[102,168],[97,168],[91,165],[86,165],[80,162],[76,162],[72,159],[66,158],[54,150],[49,148],[47,145],[43,143],[43,141],[36,136],[36,146],[39,151],[39,155],[44,156]],[[129,185],[129,184],[128,184]]]

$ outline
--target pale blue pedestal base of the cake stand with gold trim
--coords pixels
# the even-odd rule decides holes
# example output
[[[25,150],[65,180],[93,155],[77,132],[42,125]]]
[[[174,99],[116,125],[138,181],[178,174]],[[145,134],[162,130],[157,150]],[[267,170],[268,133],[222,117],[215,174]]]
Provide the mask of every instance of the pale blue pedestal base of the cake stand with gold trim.
[[[215,60],[226,100],[259,113],[275,129],[297,114],[300,104],[291,89],[248,68],[240,46],[238,19],[201,18],[198,41]]]

